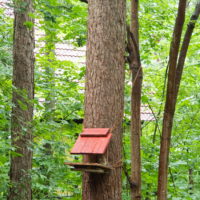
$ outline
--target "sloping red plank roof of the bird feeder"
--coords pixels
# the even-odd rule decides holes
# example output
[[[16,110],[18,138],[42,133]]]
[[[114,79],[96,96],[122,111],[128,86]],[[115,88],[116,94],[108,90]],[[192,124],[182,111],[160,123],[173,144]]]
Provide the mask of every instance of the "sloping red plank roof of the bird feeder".
[[[104,154],[112,134],[109,128],[85,128],[71,150],[71,154]]]

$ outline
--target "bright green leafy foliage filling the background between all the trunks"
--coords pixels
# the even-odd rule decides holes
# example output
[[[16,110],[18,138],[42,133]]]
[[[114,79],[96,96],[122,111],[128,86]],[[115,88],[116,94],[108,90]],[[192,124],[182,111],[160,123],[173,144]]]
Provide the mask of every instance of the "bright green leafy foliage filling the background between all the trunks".
[[[170,3],[169,3],[170,2]],[[142,0],[140,5],[140,49],[144,69],[142,103],[156,120],[142,124],[142,191],[144,199],[156,199],[159,140],[163,113],[163,90],[167,56],[176,1]],[[194,1],[188,6],[188,17]],[[82,129],[85,67],[60,61],[54,50],[58,42],[76,46],[86,42],[86,4],[78,0],[37,0],[36,29],[40,38],[35,68],[35,110],[33,144],[33,199],[81,199],[81,174],[64,165],[81,159],[69,154]],[[28,25],[28,24],[27,24]],[[28,25],[29,26],[29,25]],[[200,43],[199,23],[195,29],[181,83],[170,155],[170,200],[199,199],[200,178]],[[6,199],[10,147],[12,96],[12,18],[0,9],[0,199]],[[45,45],[44,45],[45,44]],[[124,162],[130,173],[130,73],[125,88]],[[49,102],[53,107],[48,107]],[[156,128],[157,127],[157,128]],[[123,199],[130,199],[129,183],[123,175]]]

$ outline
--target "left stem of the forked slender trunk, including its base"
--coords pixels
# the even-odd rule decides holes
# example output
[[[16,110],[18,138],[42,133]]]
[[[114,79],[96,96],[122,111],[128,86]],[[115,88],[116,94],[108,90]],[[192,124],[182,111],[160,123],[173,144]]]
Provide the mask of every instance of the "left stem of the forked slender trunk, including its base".
[[[175,78],[176,78],[176,63],[178,58],[181,34],[185,21],[186,0],[179,1],[178,16],[174,27],[173,38],[171,42],[169,55],[169,72],[167,83],[167,96],[165,103],[165,111],[163,118],[163,129],[161,137],[160,157],[159,157],[159,172],[158,172],[158,200],[167,199],[167,175],[168,175],[168,160],[169,148],[171,139],[171,130],[173,125],[173,116],[175,107]]]

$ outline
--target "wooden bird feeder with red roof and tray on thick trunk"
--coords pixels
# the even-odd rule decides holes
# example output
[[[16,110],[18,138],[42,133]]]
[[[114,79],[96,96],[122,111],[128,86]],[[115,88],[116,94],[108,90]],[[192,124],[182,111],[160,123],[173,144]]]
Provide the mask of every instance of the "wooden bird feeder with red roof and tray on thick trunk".
[[[103,155],[106,153],[112,133],[109,128],[85,128],[79,135],[71,154]],[[101,163],[65,163],[75,171],[90,173],[106,173],[112,167]]]

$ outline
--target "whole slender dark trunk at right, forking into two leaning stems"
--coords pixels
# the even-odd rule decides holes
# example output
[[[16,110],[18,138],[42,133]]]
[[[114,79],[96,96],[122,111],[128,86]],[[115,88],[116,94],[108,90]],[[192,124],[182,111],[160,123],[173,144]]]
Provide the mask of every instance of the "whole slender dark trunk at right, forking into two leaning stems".
[[[174,28],[174,34],[171,43],[170,57],[169,57],[168,86],[167,86],[167,96],[166,96],[165,111],[163,118],[163,129],[162,129],[161,148],[159,157],[158,200],[167,199],[168,160],[169,160],[169,149],[170,149],[172,126],[173,126],[173,118],[174,118],[178,90],[180,86],[180,81],[182,77],[182,72],[189,42],[192,36],[196,20],[198,19],[200,13],[200,3],[197,4],[195,12],[192,15],[191,20],[188,24],[188,28],[186,30],[178,58],[181,33],[185,19],[185,8],[186,8],[186,0],[184,1],[180,0],[178,16]]]

